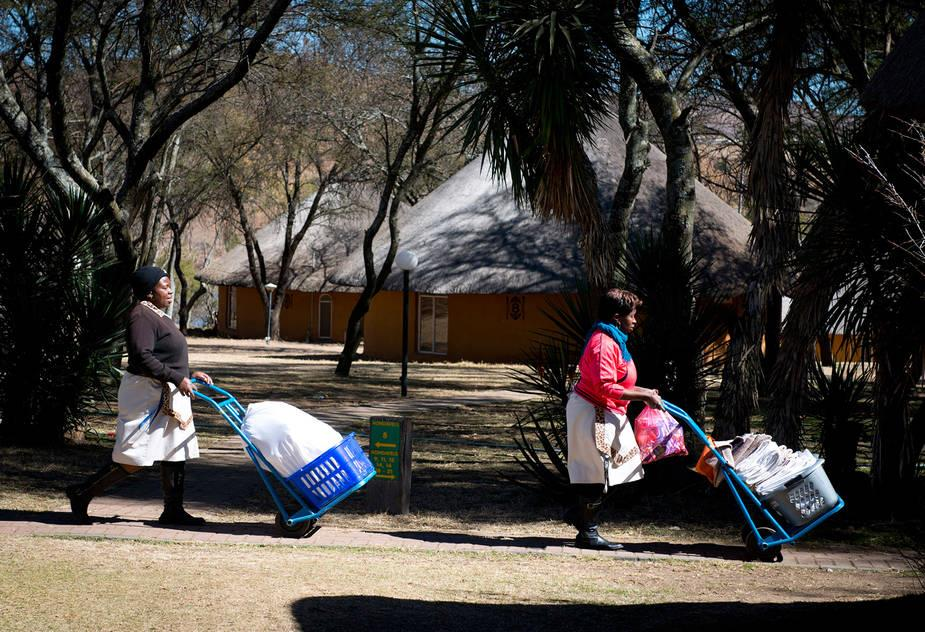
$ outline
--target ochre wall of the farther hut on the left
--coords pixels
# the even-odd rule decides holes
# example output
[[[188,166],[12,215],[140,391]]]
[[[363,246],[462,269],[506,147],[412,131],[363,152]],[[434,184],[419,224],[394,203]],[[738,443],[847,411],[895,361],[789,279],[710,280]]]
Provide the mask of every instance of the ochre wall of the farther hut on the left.
[[[257,290],[250,287],[236,288],[238,322],[234,329],[228,323],[229,288],[219,287],[218,323],[220,334],[232,338],[263,338],[267,335],[266,309],[260,301]],[[331,292],[331,335],[330,340],[343,342],[347,319],[356,304],[358,294]],[[283,340],[315,342],[319,340],[318,310],[321,294],[317,292],[287,292],[286,303],[279,315],[280,337]],[[309,332],[311,327],[311,332]]]

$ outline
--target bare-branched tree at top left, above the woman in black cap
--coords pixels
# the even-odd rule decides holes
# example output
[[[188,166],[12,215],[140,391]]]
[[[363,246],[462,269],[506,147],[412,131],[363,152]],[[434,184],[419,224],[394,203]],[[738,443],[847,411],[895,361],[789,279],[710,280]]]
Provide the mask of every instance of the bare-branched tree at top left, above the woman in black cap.
[[[122,264],[150,251],[136,224],[152,163],[184,123],[250,70],[291,0],[61,0],[4,10],[0,118],[59,191],[108,209]],[[149,198],[148,198],[149,199]]]

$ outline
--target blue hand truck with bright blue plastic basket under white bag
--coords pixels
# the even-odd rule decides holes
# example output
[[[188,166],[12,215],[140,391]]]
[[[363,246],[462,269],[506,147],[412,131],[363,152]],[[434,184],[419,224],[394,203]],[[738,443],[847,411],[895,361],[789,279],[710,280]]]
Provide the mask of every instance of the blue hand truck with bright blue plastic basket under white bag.
[[[373,464],[351,433],[299,471],[283,476],[242,432],[246,412],[244,406],[231,393],[215,384],[206,384],[198,379],[193,382],[198,389],[196,399],[208,402],[218,410],[244,442],[244,451],[254,462],[257,473],[276,504],[276,526],[283,536],[311,537],[319,529],[316,524],[321,516],[376,475]],[[273,488],[273,480],[292,499],[290,506],[296,506],[291,512]]]

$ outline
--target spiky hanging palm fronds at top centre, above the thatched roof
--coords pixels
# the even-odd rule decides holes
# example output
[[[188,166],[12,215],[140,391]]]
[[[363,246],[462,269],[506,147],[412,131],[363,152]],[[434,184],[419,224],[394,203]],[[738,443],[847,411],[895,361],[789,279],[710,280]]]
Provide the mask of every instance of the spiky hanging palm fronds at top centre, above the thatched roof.
[[[509,177],[515,197],[539,217],[600,233],[597,182],[584,147],[616,92],[614,60],[588,28],[594,3],[452,0],[427,7],[430,67],[461,69],[465,149],[480,148],[494,177]]]

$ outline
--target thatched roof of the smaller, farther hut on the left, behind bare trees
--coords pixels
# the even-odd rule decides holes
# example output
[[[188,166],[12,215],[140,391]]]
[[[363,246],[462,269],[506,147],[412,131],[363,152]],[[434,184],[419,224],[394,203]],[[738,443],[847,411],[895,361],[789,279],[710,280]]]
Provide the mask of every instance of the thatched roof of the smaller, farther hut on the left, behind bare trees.
[[[293,233],[305,221],[311,202],[312,196],[297,211]],[[328,189],[322,198],[318,215],[293,257],[292,271],[295,279],[292,290],[319,292],[335,287],[328,279],[329,273],[354,249],[362,250],[363,231],[373,214],[373,204],[369,191],[336,186]],[[256,234],[266,261],[267,278],[271,281],[275,281],[279,275],[285,234],[285,215],[271,221]],[[196,278],[215,285],[254,286],[243,244],[235,246],[223,257],[210,263]],[[353,288],[340,289],[349,291]]]

